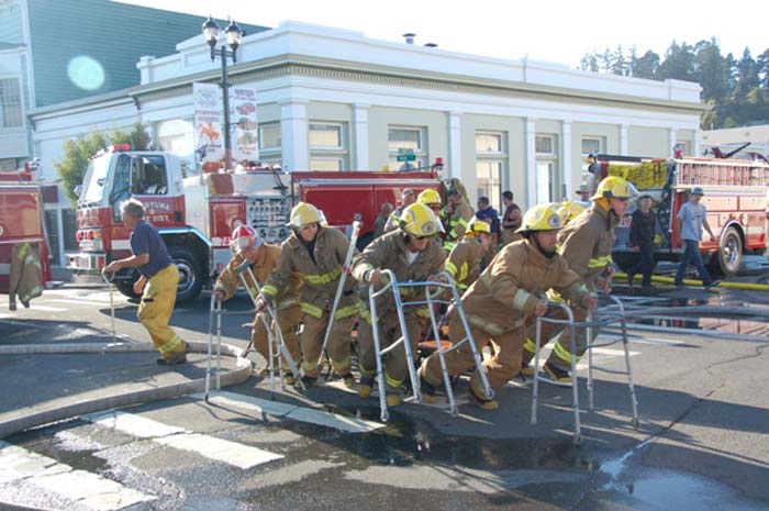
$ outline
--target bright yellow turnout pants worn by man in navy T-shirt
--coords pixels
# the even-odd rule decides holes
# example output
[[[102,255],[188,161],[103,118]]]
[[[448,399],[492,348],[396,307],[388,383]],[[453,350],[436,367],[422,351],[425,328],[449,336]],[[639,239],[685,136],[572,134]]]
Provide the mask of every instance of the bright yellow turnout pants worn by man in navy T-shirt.
[[[176,265],[166,266],[149,278],[138,306],[138,320],[166,360],[187,351],[183,341],[168,326],[178,285],[179,270]]]

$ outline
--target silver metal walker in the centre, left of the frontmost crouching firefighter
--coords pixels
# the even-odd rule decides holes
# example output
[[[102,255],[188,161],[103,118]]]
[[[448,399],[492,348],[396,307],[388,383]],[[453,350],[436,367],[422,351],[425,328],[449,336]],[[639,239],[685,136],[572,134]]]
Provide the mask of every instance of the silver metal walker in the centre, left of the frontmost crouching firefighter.
[[[379,389],[379,409],[380,409],[379,416],[382,420],[382,422],[387,422],[390,419],[390,413],[388,412],[388,409],[387,409],[387,400],[386,400],[386,396],[384,396],[384,375],[383,375],[383,368],[382,368],[382,357],[387,353],[395,349],[401,344],[403,345],[403,348],[405,349],[406,366],[409,369],[409,377],[411,379],[411,388],[413,389],[413,401],[420,402],[422,400],[422,395],[420,392],[420,384],[419,384],[419,379],[416,376],[416,368],[414,366],[414,356],[412,353],[411,340],[409,338],[409,329],[406,325],[405,313],[403,312],[404,306],[426,306],[427,310],[430,311],[431,326],[433,330],[433,335],[435,335],[435,340],[436,340],[436,344],[437,344],[437,348],[438,348],[438,355],[441,358],[441,368],[443,371],[444,382],[446,385],[446,393],[447,393],[448,399],[449,399],[449,409],[450,409],[450,412],[453,415],[457,414],[457,406],[456,406],[456,401],[454,399],[454,392],[452,390],[452,384],[450,384],[450,378],[448,375],[448,369],[446,368],[446,362],[444,359],[445,354],[452,349],[458,348],[461,344],[467,342],[467,343],[469,343],[470,349],[472,351],[472,356],[475,357],[476,366],[477,367],[481,366],[481,356],[476,347],[476,343],[472,338],[472,334],[470,333],[470,326],[469,326],[469,323],[467,322],[467,318],[465,316],[465,310],[461,307],[461,300],[459,299],[459,293],[457,292],[457,288],[454,285],[454,279],[452,278],[450,275],[448,275],[445,271],[439,274],[439,276],[444,278],[444,281],[423,280],[423,281],[399,282],[398,279],[395,278],[395,274],[392,270],[386,269],[386,270],[382,270],[382,277],[383,277],[383,280],[389,280],[388,284],[386,284],[379,290],[375,290],[374,285],[369,286],[369,310],[371,311],[371,329],[374,332],[374,347],[375,347],[375,354],[376,354],[376,359],[377,359],[377,384],[378,384],[378,389]],[[412,289],[413,288],[423,288],[424,289],[424,299],[403,301],[401,299],[401,289],[409,289],[409,288],[412,288]],[[461,341],[459,341],[458,343],[455,343],[450,348],[444,349],[442,344],[441,344],[438,321],[436,318],[436,310],[438,308],[435,306],[449,304],[452,302],[452,300],[441,298],[445,293],[446,290],[449,290],[452,293],[452,300],[455,302],[455,311],[456,311],[456,313],[459,314],[459,318],[461,319],[466,335]],[[379,338],[379,325],[378,325],[378,313],[377,313],[377,300],[376,299],[378,297],[384,295],[388,291],[392,292],[394,301],[395,301],[395,310],[398,311],[398,321],[399,321],[400,329],[401,329],[401,337],[398,338],[397,341],[394,341],[390,346],[382,349],[381,342]],[[486,390],[487,397],[489,399],[491,399],[493,393],[489,387],[489,381],[488,381],[486,374],[483,371],[481,371],[481,380],[483,382],[483,389]]]

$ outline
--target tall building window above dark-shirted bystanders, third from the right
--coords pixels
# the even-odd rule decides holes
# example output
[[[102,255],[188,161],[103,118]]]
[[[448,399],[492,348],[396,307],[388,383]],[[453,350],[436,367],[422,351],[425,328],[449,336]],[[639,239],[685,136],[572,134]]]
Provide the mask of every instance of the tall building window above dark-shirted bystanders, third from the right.
[[[497,211],[502,208],[502,181],[506,167],[504,133],[476,132],[476,199],[488,197]]]

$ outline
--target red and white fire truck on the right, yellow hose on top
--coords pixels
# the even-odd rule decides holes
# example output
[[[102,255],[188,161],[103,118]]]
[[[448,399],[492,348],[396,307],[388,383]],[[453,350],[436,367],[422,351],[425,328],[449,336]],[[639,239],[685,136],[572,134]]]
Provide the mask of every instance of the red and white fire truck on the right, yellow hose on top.
[[[707,208],[707,223],[715,234],[700,242],[700,251],[712,269],[734,275],[743,254],[761,254],[766,249],[767,188],[769,164],[760,159],[712,158],[677,155],[671,159],[597,155],[590,163],[597,181],[606,176],[622,176],[638,192],[651,197],[657,215],[656,257],[678,260],[683,245],[676,232],[681,205],[692,188],[704,190],[702,204]],[[632,208],[616,230],[614,260],[626,269],[635,259],[627,246]]]

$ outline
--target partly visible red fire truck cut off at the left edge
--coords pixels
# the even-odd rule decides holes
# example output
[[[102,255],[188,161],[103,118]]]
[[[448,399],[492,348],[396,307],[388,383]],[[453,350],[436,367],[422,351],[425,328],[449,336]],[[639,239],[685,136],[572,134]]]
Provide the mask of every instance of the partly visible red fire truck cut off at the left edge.
[[[41,259],[41,282],[52,281],[43,192],[30,166],[23,171],[0,173],[0,292],[10,292],[13,247],[30,243]]]

